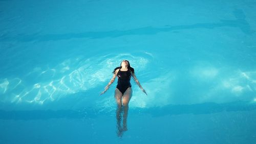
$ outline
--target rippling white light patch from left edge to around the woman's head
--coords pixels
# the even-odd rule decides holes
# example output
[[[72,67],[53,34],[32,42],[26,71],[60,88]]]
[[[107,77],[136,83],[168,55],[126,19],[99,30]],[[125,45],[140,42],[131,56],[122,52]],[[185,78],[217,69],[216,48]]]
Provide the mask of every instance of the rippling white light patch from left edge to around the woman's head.
[[[87,91],[109,80],[113,67],[124,57],[132,57],[131,61],[137,62],[134,66],[139,67],[138,70],[144,69],[148,63],[143,57],[121,54],[114,57],[68,59],[46,70],[36,67],[24,78],[3,79],[0,84],[2,101],[44,104],[45,101],[55,101],[67,94]],[[26,85],[26,81],[35,83]]]

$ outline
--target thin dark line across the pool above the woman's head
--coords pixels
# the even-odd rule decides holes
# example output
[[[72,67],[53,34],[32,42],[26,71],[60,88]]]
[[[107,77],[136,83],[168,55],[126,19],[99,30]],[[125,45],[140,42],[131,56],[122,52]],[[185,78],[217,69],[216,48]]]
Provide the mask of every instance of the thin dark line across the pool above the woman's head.
[[[159,32],[169,32],[177,30],[188,30],[188,29],[214,29],[220,27],[232,27],[239,28],[245,34],[252,34],[255,31],[250,28],[249,23],[245,19],[244,12],[240,9],[233,11],[233,15],[236,17],[234,20],[222,19],[220,22],[212,23],[196,23],[194,25],[181,25],[181,26],[166,26],[165,28],[154,28],[154,27],[143,27],[138,29],[130,30],[113,30],[105,32],[83,32],[83,33],[68,33],[68,34],[47,34],[47,35],[22,35],[19,34],[16,37],[8,37],[2,35],[0,41],[49,41],[49,40],[63,40],[71,38],[105,38],[105,37],[120,37],[125,35],[153,35]]]

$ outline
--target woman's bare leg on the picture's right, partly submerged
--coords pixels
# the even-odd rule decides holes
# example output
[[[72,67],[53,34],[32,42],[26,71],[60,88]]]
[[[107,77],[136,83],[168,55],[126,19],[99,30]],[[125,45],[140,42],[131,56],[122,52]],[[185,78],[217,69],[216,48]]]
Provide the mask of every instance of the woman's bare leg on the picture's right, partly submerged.
[[[132,98],[133,90],[131,87],[127,88],[126,91],[123,93],[123,130],[127,130],[127,114],[129,109],[129,102]]]

